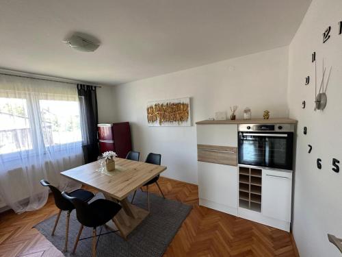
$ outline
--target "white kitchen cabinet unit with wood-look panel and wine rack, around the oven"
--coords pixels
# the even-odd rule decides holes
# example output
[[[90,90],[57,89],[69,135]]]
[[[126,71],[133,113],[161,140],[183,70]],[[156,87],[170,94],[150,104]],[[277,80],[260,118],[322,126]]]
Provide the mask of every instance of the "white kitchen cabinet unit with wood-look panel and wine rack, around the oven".
[[[292,171],[239,164],[237,124],[197,125],[200,206],[289,231]]]

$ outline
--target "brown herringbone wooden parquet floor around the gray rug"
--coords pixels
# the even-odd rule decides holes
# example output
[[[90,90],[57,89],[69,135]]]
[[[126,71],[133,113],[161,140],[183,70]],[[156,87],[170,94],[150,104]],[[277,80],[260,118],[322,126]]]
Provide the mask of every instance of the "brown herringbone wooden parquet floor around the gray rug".
[[[198,186],[194,184],[167,178],[160,178],[159,184],[168,199],[182,201],[194,207],[174,236],[164,257],[298,256],[291,234],[198,206]],[[149,190],[159,193],[157,186]],[[40,210],[22,215],[16,215],[12,211],[1,213],[0,256],[63,256],[38,230],[32,228],[56,213],[52,195]]]

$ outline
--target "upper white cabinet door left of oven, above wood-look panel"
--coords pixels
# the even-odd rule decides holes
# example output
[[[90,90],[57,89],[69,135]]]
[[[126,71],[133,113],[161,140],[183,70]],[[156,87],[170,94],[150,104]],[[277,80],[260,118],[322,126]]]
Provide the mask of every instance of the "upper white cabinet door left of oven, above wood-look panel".
[[[237,147],[237,124],[197,125],[198,145]]]

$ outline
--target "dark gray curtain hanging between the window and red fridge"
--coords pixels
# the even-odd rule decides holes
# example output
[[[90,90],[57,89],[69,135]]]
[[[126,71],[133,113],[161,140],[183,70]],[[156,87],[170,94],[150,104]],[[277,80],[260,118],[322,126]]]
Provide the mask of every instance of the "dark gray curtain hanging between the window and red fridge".
[[[99,155],[97,140],[97,97],[96,86],[77,84],[81,108],[81,129],[83,154],[86,163],[94,162]]]

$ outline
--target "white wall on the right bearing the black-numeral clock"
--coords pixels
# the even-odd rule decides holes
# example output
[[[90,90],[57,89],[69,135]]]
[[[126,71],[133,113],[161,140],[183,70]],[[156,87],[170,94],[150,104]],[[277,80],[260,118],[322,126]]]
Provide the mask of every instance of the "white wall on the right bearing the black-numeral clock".
[[[341,256],[328,242],[327,233],[342,237],[342,177],[332,171],[332,158],[342,162],[342,21],[341,0],[314,0],[289,47],[290,117],[298,119],[298,142],[295,171],[293,234],[300,256]],[[322,33],[332,26],[331,38],[322,43]],[[318,79],[322,58],[332,73],[327,90],[328,105],[314,112],[315,70],[311,53],[316,51]],[[304,77],[311,76],[310,86]],[[301,108],[302,100],[307,107]],[[308,134],[302,132],[308,127]],[[308,154],[308,144],[313,146]],[[321,158],[323,169],[316,166]],[[342,165],[341,165],[342,168]]]

